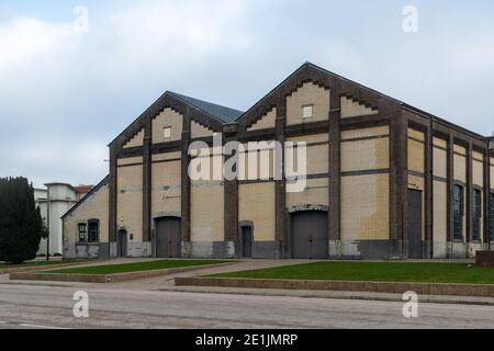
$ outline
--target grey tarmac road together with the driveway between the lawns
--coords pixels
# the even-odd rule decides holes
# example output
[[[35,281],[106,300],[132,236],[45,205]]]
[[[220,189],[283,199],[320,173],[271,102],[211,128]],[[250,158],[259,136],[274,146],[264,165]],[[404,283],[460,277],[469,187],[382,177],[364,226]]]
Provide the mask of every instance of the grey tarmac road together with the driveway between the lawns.
[[[406,302],[394,294],[173,286],[178,275],[302,262],[245,261],[113,284],[11,282],[1,275],[0,329],[494,327],[494,298],[419,296],[418,317],[405,318]],[[88,293],[89,318],[74,316],[74,294],[79,291]]]

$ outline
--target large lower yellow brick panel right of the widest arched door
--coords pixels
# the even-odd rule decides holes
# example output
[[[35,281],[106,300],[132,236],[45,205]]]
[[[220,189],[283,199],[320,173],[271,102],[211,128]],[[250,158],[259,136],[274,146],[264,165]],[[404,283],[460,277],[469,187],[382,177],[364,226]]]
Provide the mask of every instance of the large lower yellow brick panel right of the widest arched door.
[[[390,177],[341,178],[341,239],[390,239]]]

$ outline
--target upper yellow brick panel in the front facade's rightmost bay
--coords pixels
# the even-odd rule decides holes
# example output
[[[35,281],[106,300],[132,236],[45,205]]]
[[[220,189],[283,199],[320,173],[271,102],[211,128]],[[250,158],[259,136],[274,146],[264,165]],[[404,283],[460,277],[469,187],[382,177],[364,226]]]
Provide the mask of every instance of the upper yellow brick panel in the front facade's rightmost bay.
[[[341,171],[385,169],[390,167],[390,139],[341,143]]]

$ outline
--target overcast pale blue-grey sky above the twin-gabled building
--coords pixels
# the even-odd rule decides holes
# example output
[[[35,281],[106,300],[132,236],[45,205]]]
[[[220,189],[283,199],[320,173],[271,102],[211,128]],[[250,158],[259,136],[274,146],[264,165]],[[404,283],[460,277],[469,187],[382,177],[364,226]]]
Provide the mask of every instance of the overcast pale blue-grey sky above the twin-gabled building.
[[[98,183],[166,90],[246,110],[304,61],[494,128],[493,1],[1,0],[0,177]]]

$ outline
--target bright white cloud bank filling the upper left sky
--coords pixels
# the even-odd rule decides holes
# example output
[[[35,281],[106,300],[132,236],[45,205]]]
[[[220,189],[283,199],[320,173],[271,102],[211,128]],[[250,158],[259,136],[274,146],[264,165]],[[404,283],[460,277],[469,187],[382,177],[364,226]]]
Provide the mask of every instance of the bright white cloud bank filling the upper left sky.
[[[153,89],[149,79],[160,79],[161,91],[150,91],[155,97],[173,89],[167,81],[191,67],[203,70],[252,43],[243,25],[245,0],[145,0],[106,11],[89,8],[87,34],[74,30],[70,12],[60,23],[32,18],[0,23],[0,94],[10,99],[0,105],[0,121],[10,118],[5,112],[13,105],[16,118],[43,114],[57,123],[72,114],[69,107],[86,110],[81,99],[121,95],[130,84]]]

